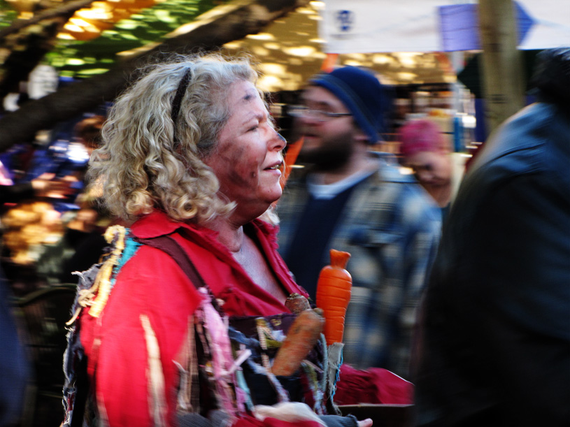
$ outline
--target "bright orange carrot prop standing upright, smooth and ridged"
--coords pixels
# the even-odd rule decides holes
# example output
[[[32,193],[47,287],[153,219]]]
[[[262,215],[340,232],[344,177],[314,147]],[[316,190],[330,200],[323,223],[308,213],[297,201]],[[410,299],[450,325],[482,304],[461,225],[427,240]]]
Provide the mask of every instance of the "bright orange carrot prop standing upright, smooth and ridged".
[[[324,312],[327,345],[343,341],[344,318],[352,287],[352,277],[345,270],[350,254],[336,249],[331,249],[330,254],[331,264],[322,268],[317,282],[317,307]]]

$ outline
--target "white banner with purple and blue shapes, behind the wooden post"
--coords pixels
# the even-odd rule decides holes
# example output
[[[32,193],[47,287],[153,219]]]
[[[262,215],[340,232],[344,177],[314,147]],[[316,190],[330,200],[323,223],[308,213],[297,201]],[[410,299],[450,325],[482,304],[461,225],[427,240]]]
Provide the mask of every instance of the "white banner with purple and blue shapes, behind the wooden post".
[[[471,50],[478,39],[476,1],[326,0],[319,36],[327,53]],[[520,49],[570,45],[570,1],[517,0]],[[449,19],[457,10],[462,23]],[[450,25],[450,23],[452,25]],[[455,24],[454,24],[455,23]],[[455,41],[461,36],[462,41]]]

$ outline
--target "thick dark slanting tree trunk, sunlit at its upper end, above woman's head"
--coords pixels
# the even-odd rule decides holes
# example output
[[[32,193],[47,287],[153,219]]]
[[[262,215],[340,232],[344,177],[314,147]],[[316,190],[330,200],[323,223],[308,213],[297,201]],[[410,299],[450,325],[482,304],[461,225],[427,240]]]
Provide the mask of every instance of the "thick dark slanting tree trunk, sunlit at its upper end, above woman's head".
[[[158,45],[138,49],[115,68],[96,77],[73,83],[0,119],[0,152],[11,145],[34,140],[36,132],[52,129],[57,122],[69,120],[112,101],[124,89],[129,75],[146,61],[173,52],[215,50],[224,43],[255,34],[270,22],[309,0],[236,0],[201,15],[180,27],[171,38]]]

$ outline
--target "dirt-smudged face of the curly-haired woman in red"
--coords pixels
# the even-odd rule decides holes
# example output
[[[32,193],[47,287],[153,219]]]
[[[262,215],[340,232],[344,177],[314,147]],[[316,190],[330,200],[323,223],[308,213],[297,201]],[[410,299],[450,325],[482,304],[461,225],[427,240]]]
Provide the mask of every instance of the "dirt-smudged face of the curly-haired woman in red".
[[[269,112],[251,82],[234,82],[227,91],[229,120],[218,147],[206,158],[220,191],[237,203],[236,215],[250,220],[281,196],[281,150],[285,139],[269,121]]]

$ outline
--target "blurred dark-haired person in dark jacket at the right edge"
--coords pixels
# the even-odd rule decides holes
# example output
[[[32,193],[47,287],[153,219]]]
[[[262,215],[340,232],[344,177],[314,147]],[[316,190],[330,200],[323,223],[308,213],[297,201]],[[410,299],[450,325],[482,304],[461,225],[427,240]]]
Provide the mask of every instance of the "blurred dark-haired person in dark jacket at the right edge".
[[[415,354],[420,426],[570,425],[570,49],[504,123],[443,229]]]

